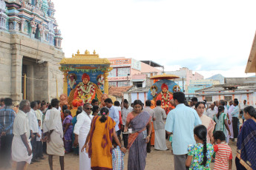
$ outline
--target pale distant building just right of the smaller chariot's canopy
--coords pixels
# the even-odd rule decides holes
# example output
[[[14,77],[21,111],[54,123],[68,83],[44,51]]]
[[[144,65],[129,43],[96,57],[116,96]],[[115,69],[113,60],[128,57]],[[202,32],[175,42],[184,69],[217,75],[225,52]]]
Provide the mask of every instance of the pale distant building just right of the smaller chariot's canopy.
[[[190,84],[190,81],[192,80],[202,80],[203,75],[200,75],[198,72],[194,72],[191,69],[188,69],[187,67],[180,68],[177,71],[167,71],[165,72],[167,75],[177,75],[180,78],[175,79],[175,83],[177,83],[180,86],[180,89],[182,92],[185,92],[186,95],[189,94],[188,92],[188,86]],[[183,91],[184,87],[184,91]]]

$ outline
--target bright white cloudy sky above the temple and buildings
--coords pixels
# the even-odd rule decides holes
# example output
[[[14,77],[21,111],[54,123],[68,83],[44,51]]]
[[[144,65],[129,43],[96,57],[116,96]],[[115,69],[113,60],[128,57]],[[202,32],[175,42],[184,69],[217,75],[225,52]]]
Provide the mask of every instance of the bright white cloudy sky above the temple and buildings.
[[[188,67],[205,78],[248,77],[256,1],[52,0],[65,57],[151,60],[165,71]]]

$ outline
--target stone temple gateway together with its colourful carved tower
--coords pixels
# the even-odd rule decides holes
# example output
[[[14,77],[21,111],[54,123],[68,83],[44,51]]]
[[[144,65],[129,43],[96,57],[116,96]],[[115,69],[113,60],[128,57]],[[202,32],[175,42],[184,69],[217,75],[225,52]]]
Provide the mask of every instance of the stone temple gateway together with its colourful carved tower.
[[[0,0],[1,97],[50,101],[62,93],[64,52],[54,13],[47,0]]]

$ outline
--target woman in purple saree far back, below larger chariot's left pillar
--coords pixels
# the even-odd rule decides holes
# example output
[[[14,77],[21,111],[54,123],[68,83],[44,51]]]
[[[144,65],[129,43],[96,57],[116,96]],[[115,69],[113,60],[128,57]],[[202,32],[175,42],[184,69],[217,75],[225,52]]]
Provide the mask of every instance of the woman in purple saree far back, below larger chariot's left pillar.
[[[72,135],[73,135],[73,125],[72,125],[72,116],[70,110],[66,109],[64,111],[65,119],[63,120],[63,133],[64,133],[64,147],[65,152],[71,152],[72,150]]]

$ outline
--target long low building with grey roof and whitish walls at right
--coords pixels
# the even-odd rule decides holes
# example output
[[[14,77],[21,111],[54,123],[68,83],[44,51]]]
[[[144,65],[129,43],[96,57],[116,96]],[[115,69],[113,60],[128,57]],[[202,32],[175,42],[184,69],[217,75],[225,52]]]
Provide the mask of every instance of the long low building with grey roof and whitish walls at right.
[[[248,105],[255,106],[256,78],[226,78],[225,82],[229,84],[217,84],[196,90],[198,100],[206,99],[207,102],[211,103],[219,100],[230,101],[237,98],[241,104],[243,100],[246,100]]]

